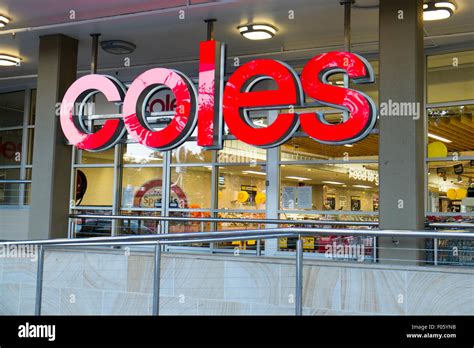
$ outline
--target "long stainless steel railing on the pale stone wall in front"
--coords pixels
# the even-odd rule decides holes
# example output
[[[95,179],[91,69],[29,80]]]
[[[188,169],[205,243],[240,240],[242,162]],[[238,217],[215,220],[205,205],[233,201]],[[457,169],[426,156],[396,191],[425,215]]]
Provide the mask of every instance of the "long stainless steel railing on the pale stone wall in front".
[[[52,246],[79,247],[79,246],[117,246],[117,245],[152,245],[154,246],[154,281],[153,281],[153,315],[159,315],[160,278],[162,246],[191,242],[211,242],[249,239],[274,239],[282,237],[296,237],[296,277],[295,277],[295,314],[302,315],[303,308],[303,245],[305,235],[360,235],[392,238],[446,238],[446,239],[474,239],[472,232],[433,232],[433,231],[400,231],[400,230],[355,230],[355,229],[327,229],[327,228],[273,228],[240,231],[217,231],[197,233],[176,233],[143,236],[121,237],[93,237],[84,239],[54,239],[0,242],[0,247],[13,245],[36,245],[39,247],[35,314],[41,315],[41,300],[43,289],[43,269],[45,249]]]

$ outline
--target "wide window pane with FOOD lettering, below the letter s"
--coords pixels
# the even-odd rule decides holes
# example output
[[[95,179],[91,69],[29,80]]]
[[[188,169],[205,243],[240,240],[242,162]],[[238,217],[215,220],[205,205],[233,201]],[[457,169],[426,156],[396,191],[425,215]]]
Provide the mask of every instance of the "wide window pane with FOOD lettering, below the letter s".
[[[281,165],[282,210],[378,211],[378,165]]]

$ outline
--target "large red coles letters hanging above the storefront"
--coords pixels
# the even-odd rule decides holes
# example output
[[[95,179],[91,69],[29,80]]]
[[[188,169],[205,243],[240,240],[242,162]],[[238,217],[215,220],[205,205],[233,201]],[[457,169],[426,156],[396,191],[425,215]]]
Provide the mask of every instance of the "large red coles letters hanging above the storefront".
[[[319,54],[308,61],[300,77],[280,61],[253,60],[240,66],[225,86],[224,62],[224,44],[214,40],[201,43],[198,91],[186,75],[165,68],[145,71],[128,90],[111,76],[81,77],[69,87],[61,103],[63,132],[74,146],[89,151],[114,146],[125,132],[142,145],[165,151],[186,141],[196,126],[199,146],[221,149],[224,121],[237,139],[262,148],[284,143],[300,126],[320,143],[354,143],[366,137],[375,124],[375,104],[367,95],[328,83],[329,76],[337,73],[346,73],[356,84],[374,82],[372,67],[357,54]],[[277,89],[252,91],[253,86],[265,79],[273,80]],[[147,123],[146,110],[152,110],[150,100],[162,89],[169,89],[174,95],[174,117],[164,128],[154,130]],[[98,131],[91,133],[84,126],[81,112],[74,115],[74,105],[83,105],[99,92],[110,103],[122,104],[122,113],[120,118],[108,118]],[[317,112],[297,114],[295,107],[304,107],[303,93],[323,106],[347,111],[349,117],[331,124]],[[168,109],[170,103],[166,103]],[[268,126],[258,127],[247,114],[249,108],[288,112],[280,113]]]

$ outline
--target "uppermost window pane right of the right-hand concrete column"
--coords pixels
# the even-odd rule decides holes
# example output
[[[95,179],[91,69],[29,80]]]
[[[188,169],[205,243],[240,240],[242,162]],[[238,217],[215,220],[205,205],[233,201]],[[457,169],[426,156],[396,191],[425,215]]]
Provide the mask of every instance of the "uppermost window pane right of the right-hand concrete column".
[[[474,98],[474,50],[433,55],[427,61],[427,101]]]

